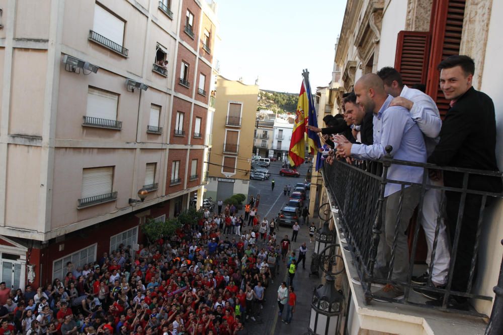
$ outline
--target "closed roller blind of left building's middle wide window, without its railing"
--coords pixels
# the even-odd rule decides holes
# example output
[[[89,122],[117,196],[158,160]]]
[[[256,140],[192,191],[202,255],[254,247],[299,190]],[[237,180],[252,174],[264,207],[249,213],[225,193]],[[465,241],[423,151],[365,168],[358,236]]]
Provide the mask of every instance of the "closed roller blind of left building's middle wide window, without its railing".
[[[99,119],[117,120],[118,102],[118,94],[89,87],[86,116]]]

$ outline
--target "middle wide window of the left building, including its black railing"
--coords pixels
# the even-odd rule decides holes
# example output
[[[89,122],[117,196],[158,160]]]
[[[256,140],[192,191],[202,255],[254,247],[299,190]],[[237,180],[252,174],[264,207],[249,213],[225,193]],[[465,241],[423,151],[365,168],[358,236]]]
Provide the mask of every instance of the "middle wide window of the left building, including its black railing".
[[[120,129],[122,122],[117,122],[118,104],[119,94],[89,87],[84,125]]]

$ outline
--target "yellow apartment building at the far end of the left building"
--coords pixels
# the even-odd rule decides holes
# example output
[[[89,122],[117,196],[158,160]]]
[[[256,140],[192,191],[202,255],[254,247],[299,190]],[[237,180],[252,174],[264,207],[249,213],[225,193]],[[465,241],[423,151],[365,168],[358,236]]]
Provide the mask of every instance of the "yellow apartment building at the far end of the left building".
[[[259,86],[217,76],[212,148],[205,196],[248,194]]]

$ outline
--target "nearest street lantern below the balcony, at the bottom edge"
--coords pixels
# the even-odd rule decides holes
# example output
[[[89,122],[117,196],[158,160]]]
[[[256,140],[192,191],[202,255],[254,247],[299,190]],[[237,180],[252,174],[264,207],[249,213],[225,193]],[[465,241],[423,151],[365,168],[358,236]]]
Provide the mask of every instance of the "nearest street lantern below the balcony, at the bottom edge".
[[[308,328],[311,335],[333,335],[339,331],[344,296],[334,283],[333,276],[327,275],[325,284],[314,289]]]

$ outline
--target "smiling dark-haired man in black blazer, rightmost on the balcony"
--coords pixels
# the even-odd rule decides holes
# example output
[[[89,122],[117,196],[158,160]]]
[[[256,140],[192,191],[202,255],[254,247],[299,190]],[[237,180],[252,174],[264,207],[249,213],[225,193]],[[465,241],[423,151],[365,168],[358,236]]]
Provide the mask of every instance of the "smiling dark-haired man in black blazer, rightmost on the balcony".
[[[475,64],[468,56],[455,55],[443,60],[438,69],[440,88],[451,108],[442,124],[440,142],[430,155],[428,162],[440,166],[496,171],[496,121],[491,98],[472,87]],[[463,174],[444,171],[444,185],[461,188]],[[501,192],[501,178],[470,175],[468,189]],[[454,243],[461,193],[446,192],[447,225],[451,243]],[[489,198],[488,198],[489,200]],[[466,194],[463,218],[459,235],[456,262],[452,276],[453,291],[466,292],[474,247],[482,196]],[[454,256],[454,255],[452,255]],[[477,266],[475,265],[475,269]],[[442,304],[442,298],[430,304]],[[467,299],[451,296],[449,306],[466,309]]]

